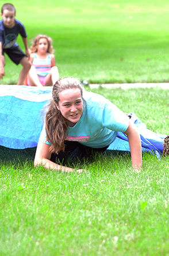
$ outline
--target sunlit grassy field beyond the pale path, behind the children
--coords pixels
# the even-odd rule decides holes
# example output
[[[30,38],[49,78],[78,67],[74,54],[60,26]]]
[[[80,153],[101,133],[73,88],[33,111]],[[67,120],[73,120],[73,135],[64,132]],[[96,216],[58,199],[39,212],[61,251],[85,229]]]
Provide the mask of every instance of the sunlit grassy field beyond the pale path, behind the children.
[[[169,80],[167,0],[12,3],[16,18],[25,25],[29,46],[37,34],[53,38],[60,77],[74,76],[90,83]],[[21,38],[18,43],[23,47]],[[20,68],[6,58],[1,84],[16,84]]]

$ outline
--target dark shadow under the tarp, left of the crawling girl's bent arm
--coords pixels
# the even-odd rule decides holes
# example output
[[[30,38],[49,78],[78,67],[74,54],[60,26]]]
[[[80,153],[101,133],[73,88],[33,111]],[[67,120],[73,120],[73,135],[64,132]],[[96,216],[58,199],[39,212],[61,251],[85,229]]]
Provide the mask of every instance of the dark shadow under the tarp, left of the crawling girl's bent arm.
[[[7,147],[0,146],[0,162],[2,164],[24,164],[32,162],[36,153],[36,147],[29,149],[9,149]]]

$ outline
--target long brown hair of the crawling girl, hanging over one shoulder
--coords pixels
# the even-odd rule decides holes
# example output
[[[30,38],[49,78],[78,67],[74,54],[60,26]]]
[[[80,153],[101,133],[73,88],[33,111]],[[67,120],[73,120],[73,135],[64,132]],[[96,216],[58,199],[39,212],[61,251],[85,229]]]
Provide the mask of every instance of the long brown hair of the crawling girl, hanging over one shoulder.
[[[72,88],[79,88],[83,99],[82,83],[74,77],[59,79],[53,86],[52,99],[49,102],[49,108],[45,116],[47,140],[52,143],[49,147],[49,151],[51,152],[58,153],[60,150],[64,151],[64,140],[67,139],[68,121],[62,116],[62,113],[57,109],[57,106],[60,101],[60,92]]]

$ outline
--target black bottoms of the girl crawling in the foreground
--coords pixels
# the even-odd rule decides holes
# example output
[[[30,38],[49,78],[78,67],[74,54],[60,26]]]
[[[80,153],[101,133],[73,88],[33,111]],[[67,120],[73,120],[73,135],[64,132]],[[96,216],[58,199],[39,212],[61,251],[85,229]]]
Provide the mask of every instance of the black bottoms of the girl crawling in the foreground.
[[[64,164],[68,157],[70,158],[78,157],[80,159],[84,157],[90,157],[93,153],[96,153],[96,152],[103,153],[107,149],[107,147],[94,149],[93,147],[84,146],[79,142],[71,142],[71,141],[65,140],[64,152],[60,151],[59,154],[52,153],[50,160],[55,163],[59,161],[60,163]]]

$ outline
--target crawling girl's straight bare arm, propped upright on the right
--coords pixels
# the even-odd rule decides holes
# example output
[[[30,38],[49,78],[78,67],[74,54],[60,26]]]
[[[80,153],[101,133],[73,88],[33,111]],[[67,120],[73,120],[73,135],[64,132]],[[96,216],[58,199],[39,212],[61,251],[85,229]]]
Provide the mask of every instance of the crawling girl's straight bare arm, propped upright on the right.
[[[132,166],[135,169],[142,167],[142,150],[140,133],[137,131],[136,126],[129,121],[129,127],[124,132],[128,136],[130,152],[132,157]]]

